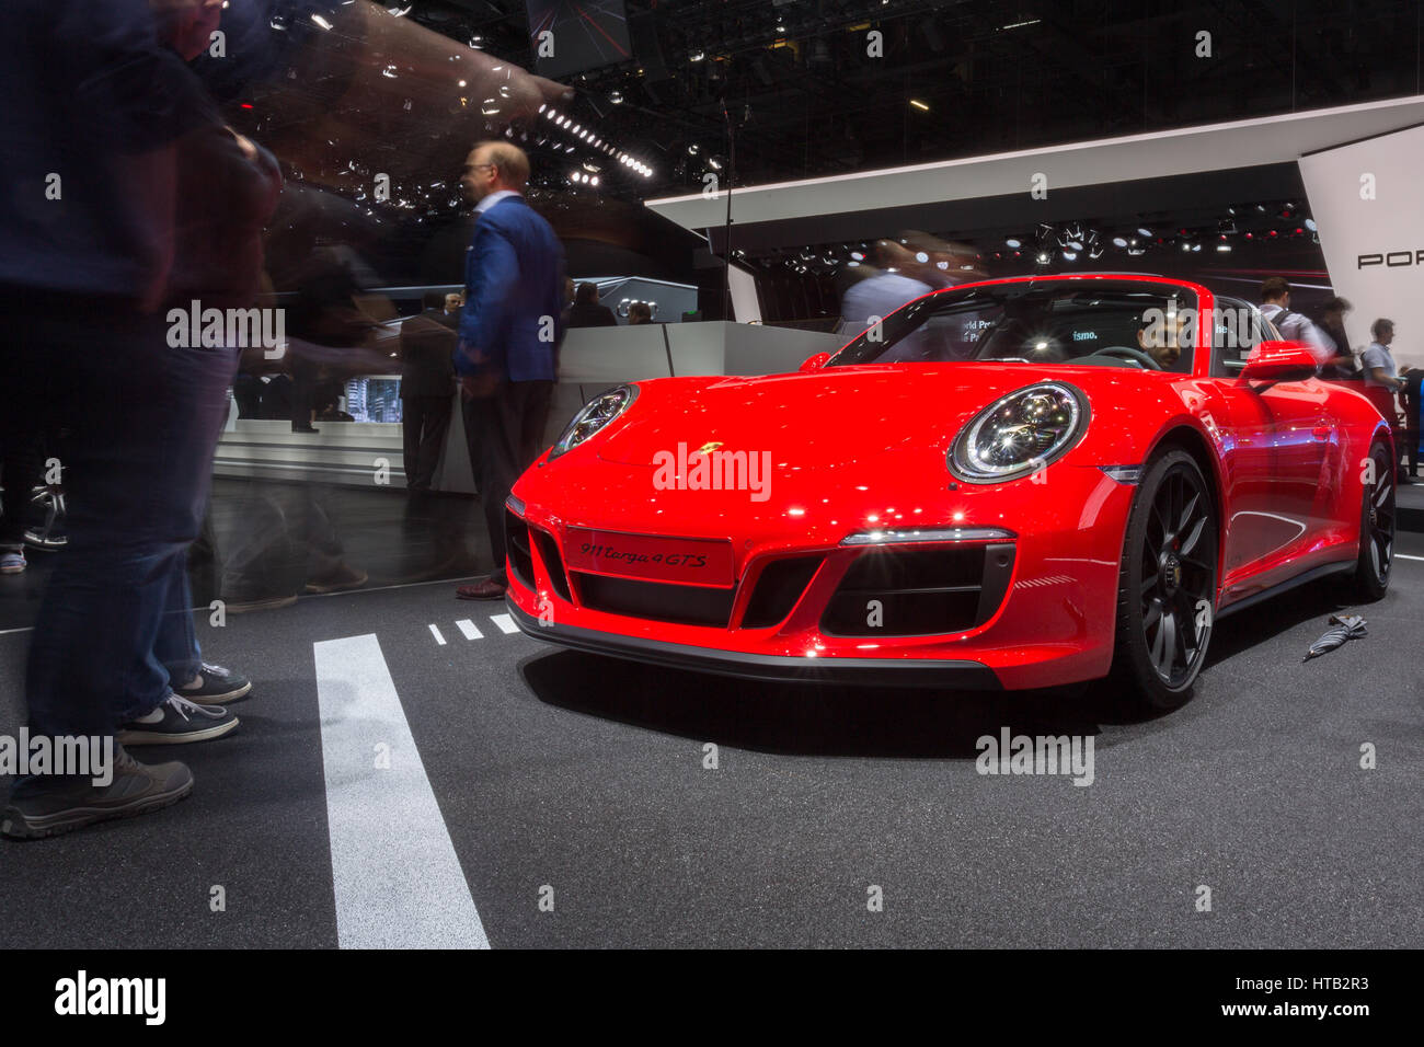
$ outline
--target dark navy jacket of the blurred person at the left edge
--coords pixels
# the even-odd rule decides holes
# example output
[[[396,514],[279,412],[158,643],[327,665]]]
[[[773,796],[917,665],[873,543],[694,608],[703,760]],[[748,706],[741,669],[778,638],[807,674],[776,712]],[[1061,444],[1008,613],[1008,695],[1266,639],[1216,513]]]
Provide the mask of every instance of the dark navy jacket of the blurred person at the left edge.
[[[0,285],[158,305],[171,147],[222,120],[148,1],[6,3],[0,85]]]

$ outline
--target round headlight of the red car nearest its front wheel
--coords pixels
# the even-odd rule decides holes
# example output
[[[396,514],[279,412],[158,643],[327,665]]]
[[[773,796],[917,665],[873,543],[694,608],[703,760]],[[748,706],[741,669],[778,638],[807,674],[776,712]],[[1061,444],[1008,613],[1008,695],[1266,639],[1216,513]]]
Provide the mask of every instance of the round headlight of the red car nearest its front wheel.
[[[968,483],[1032,473],[1072,447],[1088,427],[1088,400],[1062,382],[1040,382],[981,410],[950,446],[950,472]]]

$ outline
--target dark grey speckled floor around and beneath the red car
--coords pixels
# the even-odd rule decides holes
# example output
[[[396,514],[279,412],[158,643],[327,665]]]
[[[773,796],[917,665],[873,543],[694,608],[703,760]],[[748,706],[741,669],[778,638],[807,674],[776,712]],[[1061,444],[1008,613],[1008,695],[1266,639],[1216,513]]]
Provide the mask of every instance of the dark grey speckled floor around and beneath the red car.
[[[242,728],[135,751],[194,769],[165,812],[0,846],[0,947],[335,946],[312,645],[365,634],[494,947],[1420,947],[1424,536],[1398,551],[1418,558],[1366,640],[1302,664],[1337,605],[1297,590],[1223,620],[1196,698],[1153,719],[1102,687],[816,689],[565,652],[449,583],[204,618],[205,657],[256,681]],[[26,640],[0,635],[0,732]],[[1091,734],[1095,781],[978,775],[1001,725]]]

